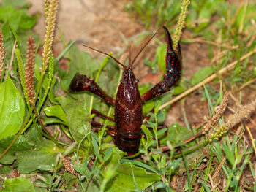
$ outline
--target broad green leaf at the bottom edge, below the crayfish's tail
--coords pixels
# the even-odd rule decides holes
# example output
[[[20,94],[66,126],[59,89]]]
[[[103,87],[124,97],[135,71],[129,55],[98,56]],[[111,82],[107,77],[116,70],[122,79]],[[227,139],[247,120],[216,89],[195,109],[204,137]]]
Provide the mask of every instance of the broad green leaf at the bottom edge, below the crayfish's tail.
[[[116,175],[110,182],[108,182],[106,191],[132,191],[135,189],[135,183],[132,178],[132,169],[135,177],[135,182],[140,190],[148,188],[148,186],[161,179],[159,174],[147,173],[145,169],[134,166],[130,163],[120,164],[116,169]]]

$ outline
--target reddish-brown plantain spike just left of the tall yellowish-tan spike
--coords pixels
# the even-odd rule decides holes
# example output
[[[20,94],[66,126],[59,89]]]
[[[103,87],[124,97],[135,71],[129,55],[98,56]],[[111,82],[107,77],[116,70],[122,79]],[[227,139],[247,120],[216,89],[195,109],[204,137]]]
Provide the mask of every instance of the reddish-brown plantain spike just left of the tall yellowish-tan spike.
[[[29,103],[34,102],[34,58],[36,51],[36,43],[33,37],[29,37],[27,42],[27,54],[26,54],[26,90],[28,92]]]

